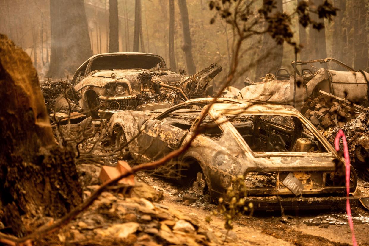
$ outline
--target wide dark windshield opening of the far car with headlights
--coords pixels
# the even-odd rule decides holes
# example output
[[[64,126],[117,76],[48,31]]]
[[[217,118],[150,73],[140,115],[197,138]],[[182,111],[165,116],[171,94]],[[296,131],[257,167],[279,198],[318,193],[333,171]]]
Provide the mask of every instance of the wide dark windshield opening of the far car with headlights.
[[[163,60],[152,55],[105,55],[96,57],[91,64],[90,71],[113,69],[153,69],[157,68]]]

